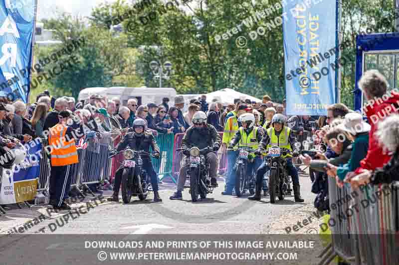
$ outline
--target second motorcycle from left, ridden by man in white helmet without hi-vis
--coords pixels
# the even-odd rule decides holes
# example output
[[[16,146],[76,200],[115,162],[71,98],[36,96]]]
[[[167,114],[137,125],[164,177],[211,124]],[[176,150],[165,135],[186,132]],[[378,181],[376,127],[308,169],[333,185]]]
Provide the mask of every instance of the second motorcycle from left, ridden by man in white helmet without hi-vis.
[[[201,199],[205,199],[206,194],[213,192],[213,187],[210,186],[210,165],[205,159],[205,154],[210,150],[212,150],[210,147],[201,150],[198,147],[192,147],[190,151],[184,148],[176,149],[176,151],[190,153],[190,169],[187,171],[186,176],[190,179],[189,187],[193,202],[196,202],[199,196]]]

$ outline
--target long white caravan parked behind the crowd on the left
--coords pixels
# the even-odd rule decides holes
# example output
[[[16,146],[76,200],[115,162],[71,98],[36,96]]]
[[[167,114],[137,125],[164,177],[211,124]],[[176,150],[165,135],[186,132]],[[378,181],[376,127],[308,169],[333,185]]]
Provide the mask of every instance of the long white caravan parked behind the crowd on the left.
[[[121,103],[126,106],[129,98],[137,98],[139,105],[148,102],[162,103],[162,98],[169,98],[169,106],[175,104],[176,90],[175,88],[128,88],[128,87],[111,87],[111,88],[84,88],[79,92],[78,100],[86,100],[92,94],[106,95],[108,99],[119,97]]]

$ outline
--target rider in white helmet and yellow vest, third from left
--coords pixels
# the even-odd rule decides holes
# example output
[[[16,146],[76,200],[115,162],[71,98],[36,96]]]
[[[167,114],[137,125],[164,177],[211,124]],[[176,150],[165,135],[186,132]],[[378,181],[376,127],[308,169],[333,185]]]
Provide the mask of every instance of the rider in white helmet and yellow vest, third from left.
[[[251,147],[253,151],[255,151],[263,136],[262,129],[253,126],[255,123],[255,116],[252,113],[244,113],[238,118],[238,120],[241,122],[241,127],[239,127],[238,131],[231,139],[228,149],[233,149],[238,143],[239,147]],[[262,163],[260,157],[255,157],[253,155],[250,156],[251,159],[253,159],[253,162],[248,163],[247,174],[252,174],[252,172],[256,171]],[[226,190],[222,191],[221,194],[232,195],[234,183],[235,174],[233,172],[231,174],[231,179],[229,179],[229,181],[226,183]]]

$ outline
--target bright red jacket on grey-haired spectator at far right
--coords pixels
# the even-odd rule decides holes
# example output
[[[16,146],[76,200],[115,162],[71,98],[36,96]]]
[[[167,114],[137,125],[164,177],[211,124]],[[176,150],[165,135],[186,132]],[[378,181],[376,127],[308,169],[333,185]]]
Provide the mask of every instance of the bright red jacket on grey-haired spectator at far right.
[[[393,113],[399,113],[399,93],[392,92],[390,96],[384,96],[375,100],[371,105],[365,107],[365,113],[371,125],[369,134],[369,150],[366,158],[360,162],[360,167],[356,169],[355,173],[360,174],[363,170],[374,171],[377,168],[382,168],[390,161],[391,156],[384,154],[382,147],[379,145],[376,136],[374,135],[378,129],[380,121]]]

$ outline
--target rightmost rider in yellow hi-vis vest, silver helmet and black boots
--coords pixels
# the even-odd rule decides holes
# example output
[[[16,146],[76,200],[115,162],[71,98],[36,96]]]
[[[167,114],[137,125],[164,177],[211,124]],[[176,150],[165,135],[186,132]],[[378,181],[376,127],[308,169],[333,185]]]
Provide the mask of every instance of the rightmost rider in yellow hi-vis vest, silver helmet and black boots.
[[[271,120],[272,126],[266,130],[266,133],[263,135],[263,139],[259,144],[259,148],[255,151],[256,154],[261,154],[261,150],[266,150],[271,146],[278,146],[280,148],[285,148],[290,151],[293,151],[292,154],[294,157],[299,156],[299,151],[296,146],[295,135],[291,134],[291,129],[287,126],[284,126],[285,116],[283,114],[274,114]],[[304,202],[301,198],[301,193],[299,191],[299,178],[298,172],[294,165],[292,164],[292,156],[287,154],[286,156],[282,156],[283,158],[287,158],[287,169],[289,175],[292,177],[292,184],[294,187],[294,198],[296,202]],[[248,197],[250,200],[260,200],[260,191],[262,188],[262,179],[263,175],[266,171],[269,170],[266,162],[263,162],[256,172],[256,190],[255,195]]]

